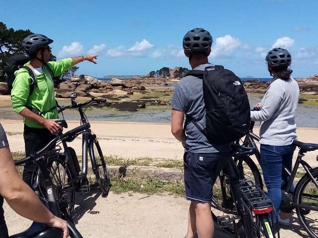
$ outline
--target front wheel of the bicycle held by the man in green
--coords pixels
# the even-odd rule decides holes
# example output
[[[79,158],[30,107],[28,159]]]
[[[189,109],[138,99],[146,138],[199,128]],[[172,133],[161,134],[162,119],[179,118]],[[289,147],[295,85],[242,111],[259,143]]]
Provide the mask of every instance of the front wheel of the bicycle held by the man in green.
[[[110,190],[110,177],[109,172],[107,171],[103,152],[101,151],[96,138],[89,142],[89,155],[99,188],[106,197]]]

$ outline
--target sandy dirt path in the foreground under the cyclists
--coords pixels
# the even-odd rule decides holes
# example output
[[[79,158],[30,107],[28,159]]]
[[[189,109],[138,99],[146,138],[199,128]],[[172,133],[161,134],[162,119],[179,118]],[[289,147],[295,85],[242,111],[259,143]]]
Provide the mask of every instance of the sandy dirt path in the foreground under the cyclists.
[[[110,193],[100,196],[98,189],[82,194],[74,211],[76,227],[84,238],[183,238],[187,228],[189,202],[170,195]],[[5,203],[4,216],[9,234],[23,231],[30,221],[16,215]],[[298,220],[291,230],[281,230],[281,238],[307,237]],[[215,238],[228,236],[216,231]]]

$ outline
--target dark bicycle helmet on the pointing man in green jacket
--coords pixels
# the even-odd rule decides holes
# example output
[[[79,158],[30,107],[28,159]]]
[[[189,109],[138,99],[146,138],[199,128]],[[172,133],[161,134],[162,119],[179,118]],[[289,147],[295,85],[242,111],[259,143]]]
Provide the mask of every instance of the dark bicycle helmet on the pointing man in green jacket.
[[[53,40],[47,38],[42,34],[32,34],[23,39],[22,46],[26,53],[35,53],[38,49],[44,48],[51,44]]]

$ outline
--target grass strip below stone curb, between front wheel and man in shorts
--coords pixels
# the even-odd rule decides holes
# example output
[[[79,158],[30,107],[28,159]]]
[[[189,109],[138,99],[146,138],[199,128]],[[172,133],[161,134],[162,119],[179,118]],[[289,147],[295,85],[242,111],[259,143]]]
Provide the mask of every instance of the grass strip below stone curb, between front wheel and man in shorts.
[[[146,194],[169,193],[184,196],[182,181],[162,181],[159,179],[112,178],[111,191],[114,193],[139,192]]]

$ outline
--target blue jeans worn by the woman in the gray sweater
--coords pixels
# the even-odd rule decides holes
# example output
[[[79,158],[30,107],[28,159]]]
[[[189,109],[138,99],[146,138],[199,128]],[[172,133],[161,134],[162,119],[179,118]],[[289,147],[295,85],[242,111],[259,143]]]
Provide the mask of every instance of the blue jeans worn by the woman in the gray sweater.
[[[282,200],[282,184],[287,185],[288,175],[283,166],[292,170],[293,154],[296,149],[294,145],[272,146],[260,145],[260,159],[264,181],[267,187],[267,196],[273,202],[276,211]],[[283,183],[282,183],[283,181]],[[294,185],[291,191],[294,191]]]

